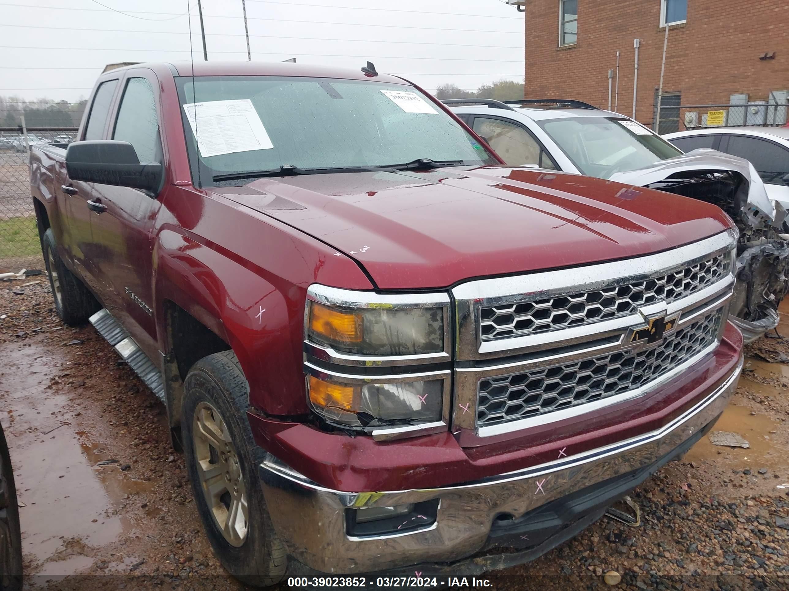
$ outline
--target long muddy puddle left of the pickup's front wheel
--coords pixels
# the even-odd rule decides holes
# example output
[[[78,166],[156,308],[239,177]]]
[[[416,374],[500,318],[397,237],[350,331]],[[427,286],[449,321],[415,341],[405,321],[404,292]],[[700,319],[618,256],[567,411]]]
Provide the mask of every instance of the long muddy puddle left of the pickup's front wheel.
[[[62,548],[66,537],[99,546],[130,533],[133,523],[114,515],[114,505],[152,484],[127,478],[119,464],[95,466],[107,456],[96,453],[99,446],[77,430],[78,407],[47,389],[53,377],[68,379],[62,377],[69,371],[66,359],[54,359],[49,350],[45,355],[36,344],[4,349],[4,371],[13,376],[14,389],[0,389],[0,400],[13,408],[6,436],[25,504],[20,508],[23,552],[40,563]],[[41,572],[69,574],[90,563],[87,556],[72,556],[44,564]]]

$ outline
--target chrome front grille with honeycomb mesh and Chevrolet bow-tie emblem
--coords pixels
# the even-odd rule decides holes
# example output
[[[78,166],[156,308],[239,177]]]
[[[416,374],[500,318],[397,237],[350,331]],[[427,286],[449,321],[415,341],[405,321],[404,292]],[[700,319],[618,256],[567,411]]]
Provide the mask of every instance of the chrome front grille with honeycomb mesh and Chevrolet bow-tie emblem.
[[[648,396],[701,362],[724,332],[737,238],[454,287],[461,445]]]

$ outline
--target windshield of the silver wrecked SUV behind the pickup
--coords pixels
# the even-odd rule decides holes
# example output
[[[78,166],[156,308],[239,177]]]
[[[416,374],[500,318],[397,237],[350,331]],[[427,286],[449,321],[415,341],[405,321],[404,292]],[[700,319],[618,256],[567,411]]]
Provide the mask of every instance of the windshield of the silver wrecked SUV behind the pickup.
[[[628,119],[573,117],[538,121],[567,158],[589,177],[653,165],[682,154],[660,136]]]

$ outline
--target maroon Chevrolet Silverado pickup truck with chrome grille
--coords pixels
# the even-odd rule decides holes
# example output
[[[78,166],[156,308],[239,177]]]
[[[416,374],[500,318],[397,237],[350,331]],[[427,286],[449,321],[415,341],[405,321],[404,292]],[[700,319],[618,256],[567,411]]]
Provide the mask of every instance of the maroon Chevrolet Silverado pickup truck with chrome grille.
[[[55,306],[166,404],[244,582],[523,563],[735,389],[716,206],[507,167],[369,67],[133,65],[88,105],[31,156]]]

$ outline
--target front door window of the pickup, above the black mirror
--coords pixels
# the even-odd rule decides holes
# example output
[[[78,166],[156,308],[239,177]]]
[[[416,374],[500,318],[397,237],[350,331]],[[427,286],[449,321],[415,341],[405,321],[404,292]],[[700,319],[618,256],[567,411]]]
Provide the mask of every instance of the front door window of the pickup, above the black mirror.
[[[131,143],[140,163],[159,161],[159,119],[153,88],[147,79],[129,78],[126,83],[112,139]]]

